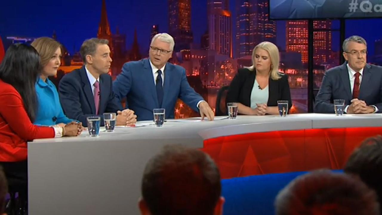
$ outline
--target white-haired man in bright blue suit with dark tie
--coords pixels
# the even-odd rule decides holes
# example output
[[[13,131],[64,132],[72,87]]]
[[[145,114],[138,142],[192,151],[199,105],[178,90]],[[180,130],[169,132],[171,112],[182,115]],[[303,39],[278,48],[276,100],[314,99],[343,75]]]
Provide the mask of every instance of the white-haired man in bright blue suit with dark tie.
[[[202,120],[214,119],[208,103],[188,84],[183,67],[168,63],[175,42],[166,33],[155,35],[151,40],[149,58],[125,63],[121,74],[113,83],[115,96],[121,100],[127,96],[126,105],[139,120],[153,120],[154,108],[165,108],[166,118],[174,118],[176,100],[183,100]]]

